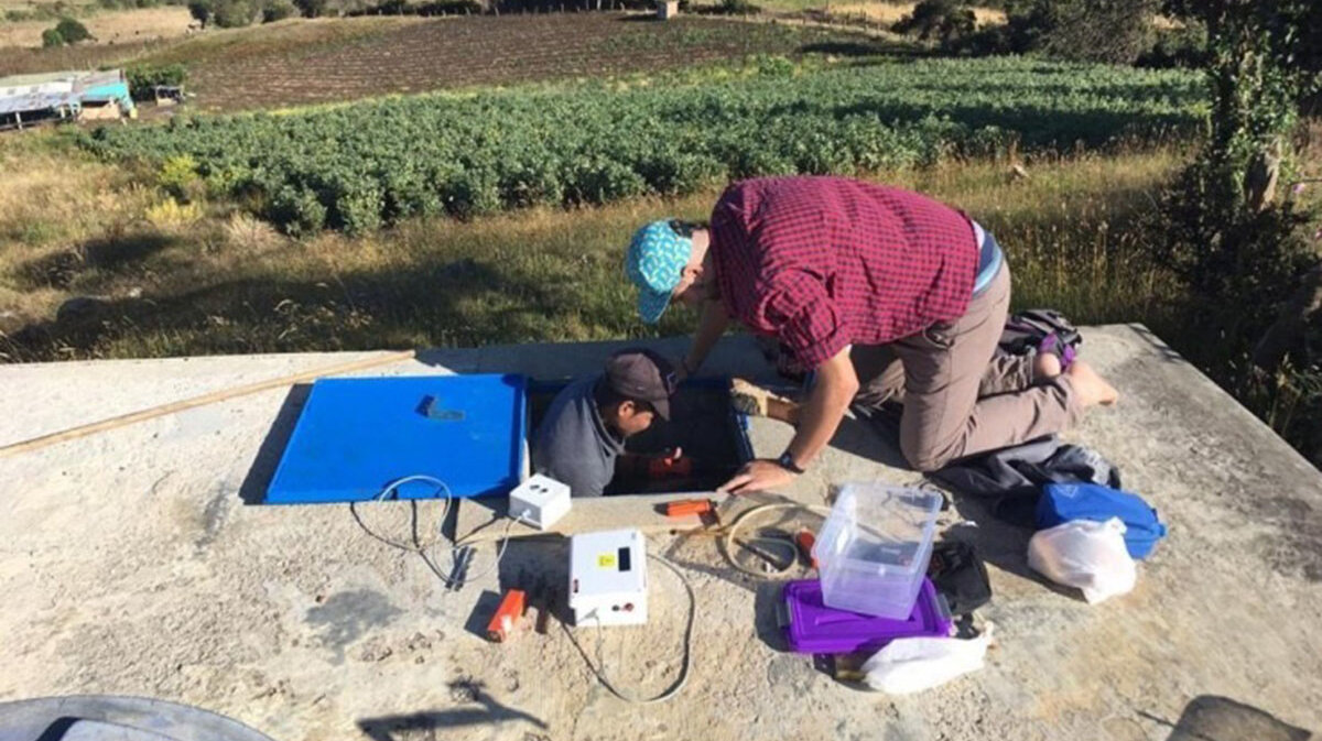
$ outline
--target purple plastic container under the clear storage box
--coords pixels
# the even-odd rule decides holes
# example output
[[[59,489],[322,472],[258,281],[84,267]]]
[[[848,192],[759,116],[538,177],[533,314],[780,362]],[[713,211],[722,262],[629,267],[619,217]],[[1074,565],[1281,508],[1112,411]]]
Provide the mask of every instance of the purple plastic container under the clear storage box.
[[[798,654],[853,654],[876,651],[896,638],[951,634],[951,610],[923,577],[917,601],[908,619],[891,619],[837,610],[822,604],[822,585],[816,579],[791,581],[779,605],[780,625],[789,649]]]

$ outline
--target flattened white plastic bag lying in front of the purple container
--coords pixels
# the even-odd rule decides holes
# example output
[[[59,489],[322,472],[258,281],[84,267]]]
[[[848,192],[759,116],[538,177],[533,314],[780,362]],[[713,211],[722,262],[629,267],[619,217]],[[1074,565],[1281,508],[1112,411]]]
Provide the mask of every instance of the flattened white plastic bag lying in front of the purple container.
[[[982,635],[969,641],[896,638],[863,662],[863,682],[890,695],[908,695],[977,671],[992,643],[992,627],[988,623]]]

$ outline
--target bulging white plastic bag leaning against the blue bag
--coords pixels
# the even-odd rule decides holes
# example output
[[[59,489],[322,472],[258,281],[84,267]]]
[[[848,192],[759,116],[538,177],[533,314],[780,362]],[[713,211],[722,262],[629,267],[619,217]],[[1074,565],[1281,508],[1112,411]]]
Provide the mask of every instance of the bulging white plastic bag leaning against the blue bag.
[[[1056,584],[1083,589],[1089,602],[1125,594],[1138,580],[1120,518],[1076,519],[1039,530],[1029,542],[1029,565]]]

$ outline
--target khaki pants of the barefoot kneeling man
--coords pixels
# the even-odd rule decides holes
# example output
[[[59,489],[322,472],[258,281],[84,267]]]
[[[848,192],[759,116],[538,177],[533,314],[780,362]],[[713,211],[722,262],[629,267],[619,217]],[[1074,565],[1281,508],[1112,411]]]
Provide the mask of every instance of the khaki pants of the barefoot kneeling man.
[[[1010,308],[1010,268],[962,317],[887,345],[855,345],[857,404],[902,400],[900,452],[917,470],[1060,432],[1079,421],[1071,382],[1034,386],[1032,359],[997,353]]]

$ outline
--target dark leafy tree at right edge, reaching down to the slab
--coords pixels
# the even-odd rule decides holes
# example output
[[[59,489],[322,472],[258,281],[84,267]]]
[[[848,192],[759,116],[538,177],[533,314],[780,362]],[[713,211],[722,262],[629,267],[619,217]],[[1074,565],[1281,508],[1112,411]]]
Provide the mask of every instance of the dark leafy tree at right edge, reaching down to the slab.
[[[1207,25],[1211,110],[1207,140],[1162,207],[1165,258],[1186,277],[1208,345],[1222,346],[1214,375],[1322,465],[1322,358],[1307,341],[1322,330],[1322,262],[1309,214],[1281,195],[1296,172],[1292,133],[1322,90],[1322,3],[1166,9]]]

